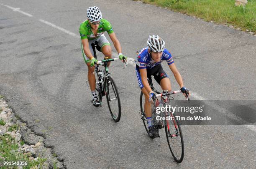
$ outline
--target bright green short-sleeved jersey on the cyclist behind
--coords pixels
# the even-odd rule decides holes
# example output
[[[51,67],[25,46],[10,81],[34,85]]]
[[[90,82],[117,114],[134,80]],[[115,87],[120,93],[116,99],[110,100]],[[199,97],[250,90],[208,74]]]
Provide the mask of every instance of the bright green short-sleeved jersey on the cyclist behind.
[[[91,26],[88,20],[85,20],[84,22],[82,22],[79,28],[81,39],[88,39],[88,40],[93,40],[100,37],[100,35],[102,35],[105,31],[107,31],[108,34],[114,32],[110,22],[108,22],[108,20],[105,20],[103,18],[100,21],[100,25],[98,27],[96,36],[92,32]]]

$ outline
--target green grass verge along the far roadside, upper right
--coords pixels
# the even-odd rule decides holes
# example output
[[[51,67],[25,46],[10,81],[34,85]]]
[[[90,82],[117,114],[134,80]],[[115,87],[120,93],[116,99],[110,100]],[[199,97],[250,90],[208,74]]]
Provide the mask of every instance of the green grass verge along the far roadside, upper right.
[[[218,24],[234,25],[241,30],[256,32],[256,0],[248,0],[245,7],[235,6],[235,0],[142,0],[145,3],[167,7],[214,21]]]

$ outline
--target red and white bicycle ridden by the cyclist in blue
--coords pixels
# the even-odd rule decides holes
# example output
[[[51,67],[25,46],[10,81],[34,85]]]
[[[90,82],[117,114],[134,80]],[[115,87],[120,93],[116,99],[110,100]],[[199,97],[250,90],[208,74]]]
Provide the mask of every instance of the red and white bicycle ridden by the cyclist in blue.
[[[157,129],[157,132],[159,132],[159,129],[161,129],[161,128],[165,129],[166,139],[167,139],[167,142],[168,142],[169,149],[172,153],[172,156],[173,156],[174,160],[177,163],[180,163],[180,162],[182,162],[182,160],[184,158],[184,142],[183,142],[183,135],[182,135],[181,127],[179,125],[179,121],[175,118],[174,113],[166,112],[166,111],[161,112],[159,114],[159,119],[160,120],[156,120],[156,117],[155,117],[156,112],[155,111],[156,111],[156,107],[158,107],[158,106],[159,107],[165,107],[167,104],[169,104],[170,100],[174,99],[173,97],[170,97],[171,94],[181,93],[181,91],[177,90],[177,91],[168,92],[167,90],[165,90],[161,93],[161,92],[159,92],[158,90],[156,90],[154,88],[153,83],[152,83],[152,78],[153,77],[154,76],[151,75],[151,77],[148,78],[148,83],[149,83],[151,89],[156,93],[156,98],[154,98],[155,109],[154,109],[154,112],[152,113],[151,123],[153,122],[154,126]],[[186,93],[186,95],[187,95],[187,98],[189,100],[188,93]],[[144,98],[143,92],[141,92],[141,95],[140,95],[141,110],[139,111],[139,113],[141,115],[141,119],[143,121],[146,132],[148,133],[147,118],[146,118],[145,112],[143,111],[143,98]],[[157,99],[157,98],[160,98],[160,100]],[[161,117],[165,117],[165,118],[169,117],[169,119],[168,120],[165,119],[164,122],[163,122],[163,120],[161,120]],[[148,136],[150,137],[149,133],[148,133]],[[159,137],[160,137],[160,135],[159,135]],[[151,138],[154,138],[154,137],[151,137]],[[178,141],[178,139],[179,139],[179,141]],[[177,146],[176,149],[174,149],[175,145]]]

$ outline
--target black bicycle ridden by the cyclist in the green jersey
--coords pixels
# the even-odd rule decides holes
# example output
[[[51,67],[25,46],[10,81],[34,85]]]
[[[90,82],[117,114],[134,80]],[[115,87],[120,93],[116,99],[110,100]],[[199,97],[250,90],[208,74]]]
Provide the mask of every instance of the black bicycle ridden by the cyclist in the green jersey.
[[[94,58],[97,59],[95,48],[100,51],[100,47],[97,45],[97,41],[92,43]],[[119,122],[121,118],[120,97],[118,94],[118,89],[108,69],[108,62],[115,60],[119,60],[119,58],[108,59],[108,57],[104,57],[104,60],[95,62],[95,74],[97,75],[96,91],[99,97],[100,106],[102,106],[102,97],[106,95],[108,109],[110,111],[111,117],[115,122]],[[100,70],[100,65],[104,67],[103,72]]]

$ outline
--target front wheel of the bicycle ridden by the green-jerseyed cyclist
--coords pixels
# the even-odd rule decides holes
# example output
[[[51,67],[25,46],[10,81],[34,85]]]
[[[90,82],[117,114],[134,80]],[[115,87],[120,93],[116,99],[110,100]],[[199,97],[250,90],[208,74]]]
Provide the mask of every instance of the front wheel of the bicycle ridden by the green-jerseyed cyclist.
[[[120,103],[120,97],[118,94],[118,89],[115,85],[114,80],[110,76],[108,76],[105,83],[106,83],[105,91],[106,91],[106,98],[107,98],[109,112],[113,120],[115,122],[119,122],[121,118],[121,103]]]

